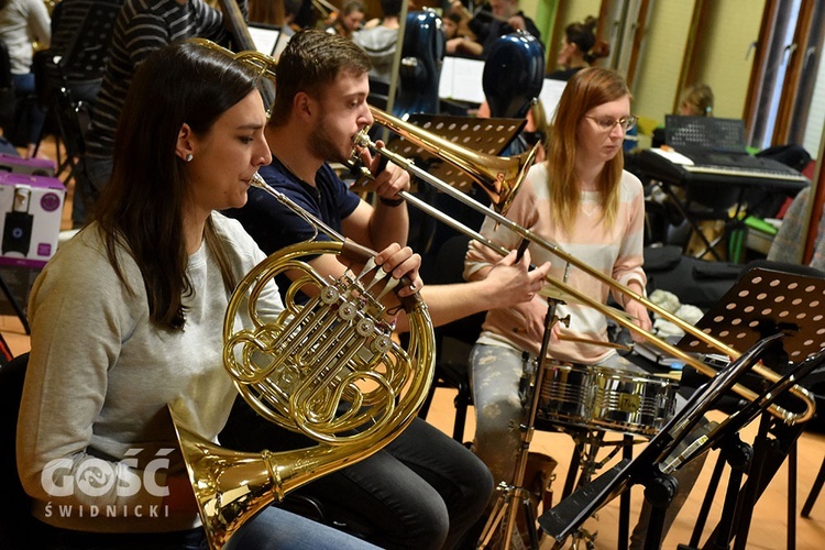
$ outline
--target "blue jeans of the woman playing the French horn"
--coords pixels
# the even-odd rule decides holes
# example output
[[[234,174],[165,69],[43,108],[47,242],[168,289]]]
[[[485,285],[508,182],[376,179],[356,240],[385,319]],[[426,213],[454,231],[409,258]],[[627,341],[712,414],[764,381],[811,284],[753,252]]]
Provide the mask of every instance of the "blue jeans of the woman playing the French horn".
[[[43,526],[47,550],[208,550],[204,529],[152,534],[73,531]],[[35,548],[34,546],[32,548]],[[273,506],[264,508],[230,537],[228,550],[375,550],[375,547]]]

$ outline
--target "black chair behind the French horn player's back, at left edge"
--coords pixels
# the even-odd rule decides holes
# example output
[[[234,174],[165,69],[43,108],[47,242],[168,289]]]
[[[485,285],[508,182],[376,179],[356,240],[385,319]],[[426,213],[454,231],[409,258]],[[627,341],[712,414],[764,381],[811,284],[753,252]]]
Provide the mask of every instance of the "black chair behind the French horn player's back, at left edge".
[[[29,496],[18,474],[15,439],[23,380],[29,354],[12,359],[0,367],[0,548],[32,548],[36,524],[30,514]]]

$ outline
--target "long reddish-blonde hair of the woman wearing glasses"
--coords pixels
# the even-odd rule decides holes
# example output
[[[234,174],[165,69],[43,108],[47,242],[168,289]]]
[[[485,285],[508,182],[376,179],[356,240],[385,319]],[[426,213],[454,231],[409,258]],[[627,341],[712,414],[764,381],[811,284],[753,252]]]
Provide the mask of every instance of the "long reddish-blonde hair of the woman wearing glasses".
[[[579,152],[579,123],[594,107],[630,97],[624,77],[613,69],[591,67],[568,81],[556,109],[548,139],[548,186],[553,223],[572,227],[579,211],[581,191],[575,173]],[[608,161],[598,178],[605,226],[613,227],[619,204],[619,180],[625,160],[619,152]]]

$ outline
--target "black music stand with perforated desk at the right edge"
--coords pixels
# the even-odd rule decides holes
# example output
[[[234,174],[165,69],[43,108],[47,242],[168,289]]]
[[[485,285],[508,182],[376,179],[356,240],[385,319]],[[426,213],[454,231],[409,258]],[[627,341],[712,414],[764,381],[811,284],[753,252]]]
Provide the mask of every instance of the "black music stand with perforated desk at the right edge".
[[[782,352],[768,366],[782,371],[783,363],[800,363],[825,348],[825,323],[821,305],[825,301],[825,279],[807,274],[792,274],[783,271],[758,267],[746,272],[740,282],[732,288],[697,327],[719,334],[719,339],[733,346],[748,345],[770,331],[785,333]],[[743,342],[737,344],[736,342]],[[706,344],[693,337],[684,337],[679,346],[698,353],[708,353]],[[754,385],[752,383],[750,385]],[[788,400],[788,399],[785,399]],[[697,547],[713,502],[716,482],[722,476],[724,464],[730,466],[727,501],[730,501],[724,517],[712,537],[717,543],[726,544],[736,536],[737,548],[744,548],[750,526],[752,505],[767,487],[785,457],[793,451],[803,428],[787,426],[763,414],[752,448],[737,441],[732,435],[719,442],[722,449],[713,480],[705,495],[702,508],[691,536],[691,547]],[[769,436],[776,438],[769,440]],[[793,465],[793,464],[791,464]],[[743,475],[748,473],[748,482],[741,488]],[[754,473],[756,472],[756,473]],[[795,480],[795,476],[793,477]],[[793,481],[792,480],[792,481]],[[789,501],[795,499],[792,485]],[[738,503],[738,506],[735,506]],[[750,505],[750,506],[749,506]],[[795,509],[789,510],[788,536],[791,547],[795,538]],[[733,521],[738,525],[734,532]]]

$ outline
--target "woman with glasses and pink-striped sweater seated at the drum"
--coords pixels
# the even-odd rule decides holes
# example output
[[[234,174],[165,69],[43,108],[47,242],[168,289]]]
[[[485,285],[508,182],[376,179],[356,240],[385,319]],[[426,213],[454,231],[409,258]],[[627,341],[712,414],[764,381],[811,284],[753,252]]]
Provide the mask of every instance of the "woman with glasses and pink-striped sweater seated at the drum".
[[[645,202],[641,183],[623,170],[622,143],[636,118],[630,114],[630,92],[624,78],[602,68],[573,75],[562,94],[550,128],[547,161],[535,165],[513,200],[508,218],[612,276],[639,295],[645,293],[642,230]],[[521,238],[487,220],[482,234],[505,246],[517,246]],[[565,264],[546,249],[531,243],[535,258],[552,263],[550,276],[563,280]],[[482,244],[470,244],[465,277],[484,277],[496,254]],[[573,268],[566,283],[602,304],[610,288],[581,270]],[[616,301],[645,330],[651,322],[646,308],[627,296]],[[475,405],[475,453],[490,466],[496,483],[514,483],[520,446],[518,426],[524,404],[519,396],[522,376],[535,364],[544,334],[547,299],[491,310],[472,352],[472,388]],[[558,308],[559,318],[570,315],[570,324],[556,323],[549,355],[559,361],[587,365],[628,366],[615,350],[598,345],[607,341],[605,317],[580,304]],[[580,343],[571,338],[585,339]],[[635,336],[634,338],[639,338]],[[528,352],[531,361],[525,361]],[[527,372],[526,372],[527,370]],[[692,462],[691,465],[695,464]],[[701,469],[701,465],[700,465]],[[686,488],[698,473],[680,471],[682,488],[670,508],[669,522],[684,502]],[[646,512],[645,514],[648,514]],[[647,521],[632,536],[641,548]]]

